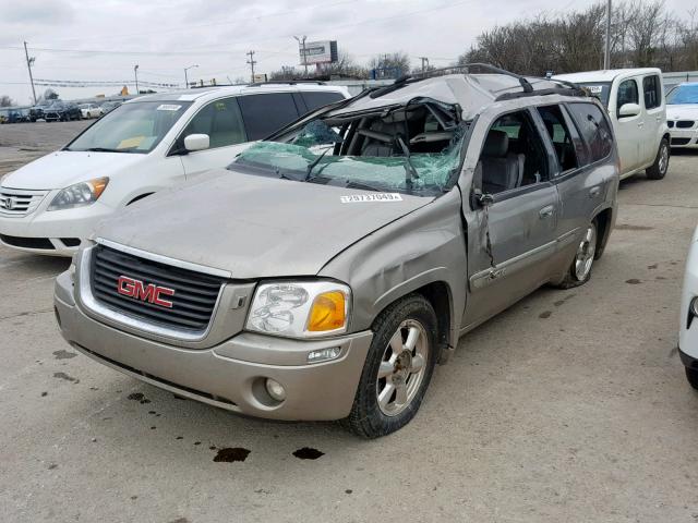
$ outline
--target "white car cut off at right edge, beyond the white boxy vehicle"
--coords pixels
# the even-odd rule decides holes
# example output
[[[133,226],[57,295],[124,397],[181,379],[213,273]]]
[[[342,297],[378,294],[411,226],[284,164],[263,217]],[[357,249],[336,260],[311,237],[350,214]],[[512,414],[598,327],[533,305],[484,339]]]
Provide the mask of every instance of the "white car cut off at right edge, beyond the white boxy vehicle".
[[[698,82],[679,84],[669,92],[666,123],[672,147],[698,147]]]

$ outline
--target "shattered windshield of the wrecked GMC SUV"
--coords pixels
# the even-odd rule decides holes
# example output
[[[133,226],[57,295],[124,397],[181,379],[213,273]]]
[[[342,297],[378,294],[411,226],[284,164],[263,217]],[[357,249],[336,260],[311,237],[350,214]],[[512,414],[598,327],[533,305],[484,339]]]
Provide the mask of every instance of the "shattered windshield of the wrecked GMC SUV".
[[[236,163],[297,181],[433,196],[455,183],[467,129],[425,106],[316,119],[288,139],[253,145]]]

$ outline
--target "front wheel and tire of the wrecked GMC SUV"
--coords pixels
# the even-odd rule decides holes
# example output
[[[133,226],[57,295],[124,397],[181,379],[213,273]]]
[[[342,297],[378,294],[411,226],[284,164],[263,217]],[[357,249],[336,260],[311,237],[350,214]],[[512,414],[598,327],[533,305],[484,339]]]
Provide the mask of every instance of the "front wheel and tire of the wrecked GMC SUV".
[[[351,413],[344,421],[349,430],[373,439],[402,428],[414,417],[434,372],[436,329],[434,308],[420,294],[406,296],[381,313],[372,327],[374,337]]]

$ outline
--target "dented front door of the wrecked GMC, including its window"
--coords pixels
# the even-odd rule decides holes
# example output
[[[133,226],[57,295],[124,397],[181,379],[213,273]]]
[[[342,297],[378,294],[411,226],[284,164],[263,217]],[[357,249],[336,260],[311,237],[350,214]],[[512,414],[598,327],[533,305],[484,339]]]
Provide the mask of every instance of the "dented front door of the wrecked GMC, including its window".
[[[551,165],[531,113],[498,117],[491,125],[464,198],[468,222],[468,300],[462,325],[478,324],[546,281],[559,214]],[[491,202],[491,203],[489,203]]]

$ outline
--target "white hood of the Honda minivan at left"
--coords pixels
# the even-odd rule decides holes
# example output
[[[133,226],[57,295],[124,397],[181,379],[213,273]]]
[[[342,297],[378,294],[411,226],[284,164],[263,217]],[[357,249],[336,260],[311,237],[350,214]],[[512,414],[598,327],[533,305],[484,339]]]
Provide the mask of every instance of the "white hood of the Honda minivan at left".
[[[2,180],[8,188],[64,188],[93,178],[109,177],[143,160],[144,155],[59,150],[17,169]]]

